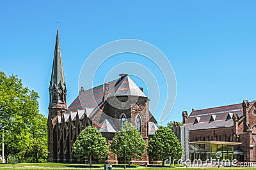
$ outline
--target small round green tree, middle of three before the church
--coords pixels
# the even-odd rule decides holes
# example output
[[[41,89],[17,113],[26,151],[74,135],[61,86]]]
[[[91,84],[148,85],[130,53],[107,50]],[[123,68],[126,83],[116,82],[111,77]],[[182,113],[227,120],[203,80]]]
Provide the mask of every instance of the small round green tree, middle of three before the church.
[[[130,159],[140,158],[147,145],[140,132],[126,121],[122,126],[122,131],[116,132],[110,148],[118,157],[126,157],[130,165]]]

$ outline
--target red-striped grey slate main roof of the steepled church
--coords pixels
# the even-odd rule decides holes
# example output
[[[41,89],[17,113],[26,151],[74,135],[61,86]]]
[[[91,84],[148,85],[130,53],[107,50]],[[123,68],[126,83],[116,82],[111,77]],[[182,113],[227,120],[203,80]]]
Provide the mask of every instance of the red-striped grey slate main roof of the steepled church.
[[[129,78],[127,74],[110,81],[110,96],[140,96],[147,97],[140,88]],[[99,85],[92,89],[85,90],[68,106],[68,111],[84,110],[85,108],[97,108],[104,101],[104,85]],[[92,110],[90,111],[92,113]]]

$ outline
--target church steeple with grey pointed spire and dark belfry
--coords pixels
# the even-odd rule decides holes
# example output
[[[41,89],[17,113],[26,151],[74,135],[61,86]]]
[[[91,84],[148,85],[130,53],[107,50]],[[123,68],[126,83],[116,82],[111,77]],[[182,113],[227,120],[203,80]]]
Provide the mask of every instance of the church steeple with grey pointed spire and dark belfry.
[[[50,103],[66,103],[66,83],[61,59],[59,29],[57,28],[52,75],[49,86]]]

